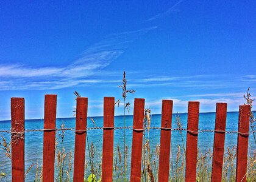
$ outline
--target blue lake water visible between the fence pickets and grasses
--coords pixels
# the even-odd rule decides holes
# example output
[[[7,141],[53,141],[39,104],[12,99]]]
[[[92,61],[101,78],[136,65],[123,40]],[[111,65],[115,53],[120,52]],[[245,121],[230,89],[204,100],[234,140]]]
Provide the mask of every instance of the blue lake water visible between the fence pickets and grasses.
[[[175,116],[172,116],[172,127],[176,127]],[[187,113],[180,113],[180,119],[182,121],[183,127],[187,128]],[[126,116],[126,126],[132,126],[133,116]],[[103,117],[93,117],[93,120],[96,123],[96,126],[102,127]],[[115,126],[123,126],[124,117],[115,116]],[[152,115],[151,117],[151,126],[160,127],[161,115]],[[75,118],[58,118],[56,121],[56,126],[64,123],[65,127],[75,127]],[[88,118],[88,127],[93,127],[93,123]],[[25,121],[26,129],[43,129],[43,120],[26,120]],[[211,129],[215,128],[215,113],[200,113],[199,115],[199,129]],[[9,130],[10,121],[0,121],[0,130]],[[227,124],[226,130],[238,130],[238,112],[228,112],[227,113]],[[56,133],[58,137],[59,132]],[[123,150],[123,129],[115,130],[114,132],[114,158],[117,156],[116,146],[119,144],[120,149]],[[10,133],[0,133],[7,142],[10,141]],[[94,164],[101,163],[101,153],[102,153],[102,130],[88,130],[88,142],[91,144],[93,142],[96,147],[96,154],[98,158],[94,158]],[[184,140],[186,139],[186,132],[182,132]],[[213,148],[213,136],[212,132],[199,133],[198,135],[198,147],[203,152]],[[154,150],[155,146],[160,143],[160,130],[151,129],[149,131],[149,140],[151,148]],[[225,147],[236,146],[237,134],[226,134]],[[130,165],[130,151],[132,146],[132,130],[126,129],[126,144],[129,148],[128,157],[127,157],[127,169]],[[177,146],[182,146],[182,138],[179,131],[172,131],[171,133],[171,159],[176,160]],[[66,151],[72,152],[74,156],[74,132],[67,130],[65,132],[65,138],[63,141],[63,146]],[[0,146],[2,148],[2,145]],[[249,136],[249,152],[253,152],[256,149],[253,136]],[[43,132],[27,132],[25,133],[25,168],[27,169],[31,164],[38,163],[39,166],[42,164],[43,158]],[[1,149],[0,152],[0,172],[5,172],[7,174],[6,181],[11,180],[11,161],[9,158],[5,157],[4,151]],[[88,149],[86,150],[86,160],[88,160]],[[73,158],[72,158],[73,161]],[[57,167],[55,167],[55,174],[57,173]],[[89,167],[90,168],[90,167]],[[25,169],[25,170],[26,170]],[[73,170],[71,170],[71,179],[73,177]],[[90,174],[89,169],[87,169],[86,176]],[[129,171],[128,174],[129,175]],[[29,171],[26,177],[26,181],[34,181],[35,179],[35,166]],[[4,180],[3,180],[4,181]]]

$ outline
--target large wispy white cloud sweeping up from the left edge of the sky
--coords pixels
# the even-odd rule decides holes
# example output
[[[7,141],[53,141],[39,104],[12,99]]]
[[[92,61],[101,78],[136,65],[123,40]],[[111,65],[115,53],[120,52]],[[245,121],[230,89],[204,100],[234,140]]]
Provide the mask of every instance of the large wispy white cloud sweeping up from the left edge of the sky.
[[[124,52],[131,42],[155,28],[157,27],[108,35],[105,39],[88,47],[80,58],[65,67],[0,64],[0,88],[2,90],[61,89],[76,86],[79,83],[104,82],[104,80],[86,80],[85,78],[107,67]]]

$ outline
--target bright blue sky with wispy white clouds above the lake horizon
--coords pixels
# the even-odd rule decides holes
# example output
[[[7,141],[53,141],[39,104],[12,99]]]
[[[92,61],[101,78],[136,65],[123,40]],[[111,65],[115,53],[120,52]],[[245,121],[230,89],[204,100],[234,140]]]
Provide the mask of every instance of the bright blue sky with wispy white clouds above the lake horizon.
[[[173,99],[174,112],[201,101],[237,111],[256,89],[255,1],[1,1],[0,120],[10,98],[24,97],[26,118],[43,118],[55,93],[57,117],[73,116],[73,91],[88,97],[88,115],[103,97],[145,98],[152,113]],[[131,112],[132,113],[132,107]],[[255,109],[255,107],[254,107]],[[123,109],[116,108],[116,115]]]

